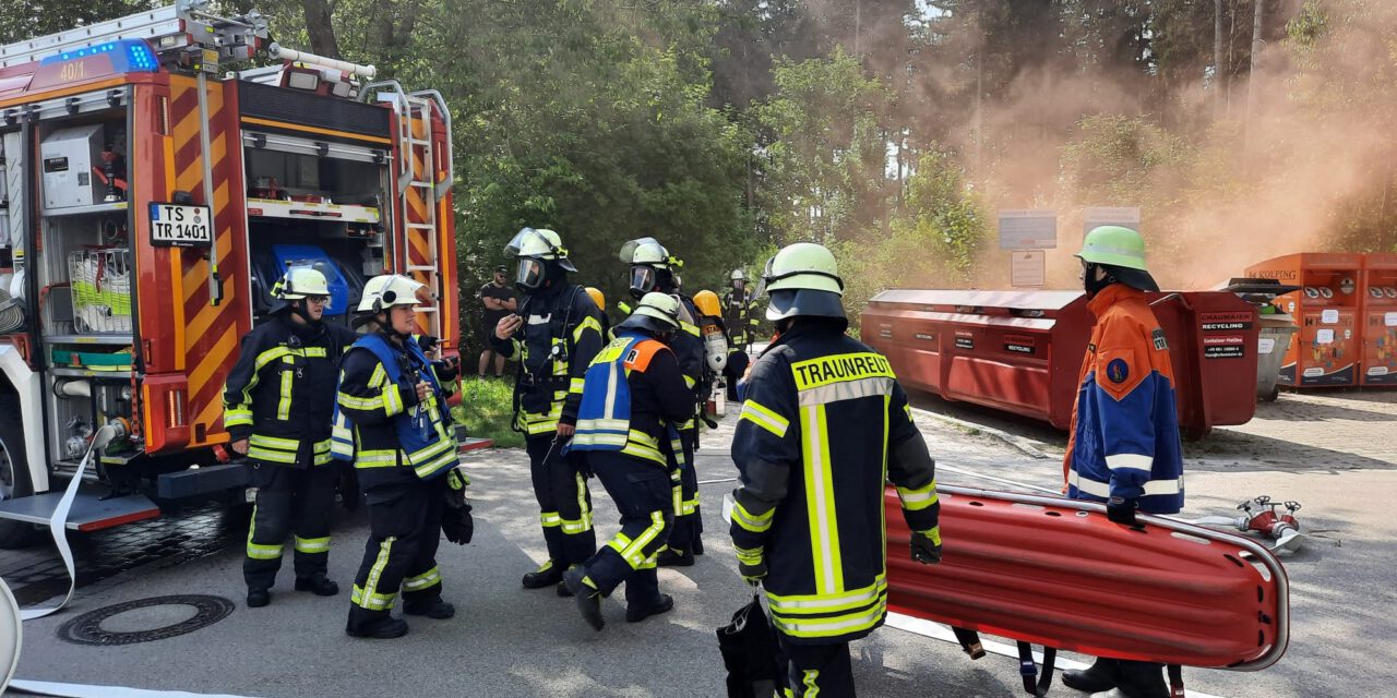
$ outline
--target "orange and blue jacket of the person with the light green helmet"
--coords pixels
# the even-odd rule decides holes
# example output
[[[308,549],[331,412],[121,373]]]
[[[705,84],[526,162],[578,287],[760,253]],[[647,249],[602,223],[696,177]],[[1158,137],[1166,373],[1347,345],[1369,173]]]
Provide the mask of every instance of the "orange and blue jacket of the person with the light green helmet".
[[[1106,286],[1081,363],[1063,461],[1067,496],[1137,500],[1147,514],[1183,508],[1183,455],[1173,369],[1164,329],[1144,292]]]

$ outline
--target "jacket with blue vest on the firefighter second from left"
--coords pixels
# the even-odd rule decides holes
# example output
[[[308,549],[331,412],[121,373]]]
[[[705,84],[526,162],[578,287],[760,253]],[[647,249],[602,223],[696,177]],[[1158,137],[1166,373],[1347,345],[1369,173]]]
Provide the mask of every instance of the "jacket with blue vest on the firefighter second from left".
[[[416,384],[432,394],[418,401]],[[412,339],[359,338],[345,355],[334,422],[334,455],[353,459],[365,490],[429,480],[458,462],[446,392]]]

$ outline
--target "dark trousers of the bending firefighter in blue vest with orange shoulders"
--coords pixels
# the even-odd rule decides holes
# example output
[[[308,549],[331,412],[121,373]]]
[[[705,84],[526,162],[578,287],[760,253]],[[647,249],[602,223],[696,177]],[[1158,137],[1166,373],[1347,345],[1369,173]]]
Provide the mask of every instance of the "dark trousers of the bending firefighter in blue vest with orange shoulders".
[[[673,524],[669,475],[654,463],[606,451],[590,451],[587,465],[620,511],[620,530],[585,563],[604,596],[626,582],[626,603],[659,602],[655,556]]]

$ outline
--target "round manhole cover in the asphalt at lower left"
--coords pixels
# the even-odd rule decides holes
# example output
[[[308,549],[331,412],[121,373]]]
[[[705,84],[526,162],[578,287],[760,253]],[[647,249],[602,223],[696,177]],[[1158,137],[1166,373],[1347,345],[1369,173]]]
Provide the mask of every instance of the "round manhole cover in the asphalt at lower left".
[[[189,609],[161,609],[163,606],[193,607],[194,613],[190,616]],[[152,609],[154,611],[123,618],[124,623],[113,623],[109,624],[109,627],[130,627],[133,623],[137,623],[140,617],[145,616],[152,618],[183,620],[159,628],[140,631],[115,631],[102,627],[103,621],[112,618],[113,616],[141,609]],[[186,632],[194,632],[198,628],[212,625],[226,618],[229,613],[233,613],[233,602],[224,599],[222,596],[179,595],[137,599],[134,602],[117,603],[105,609],[88,611],[64,623],[59,628],[59,639],[78,645],[136,645],[138,642],[151,642],[154,639],[173,638]]]

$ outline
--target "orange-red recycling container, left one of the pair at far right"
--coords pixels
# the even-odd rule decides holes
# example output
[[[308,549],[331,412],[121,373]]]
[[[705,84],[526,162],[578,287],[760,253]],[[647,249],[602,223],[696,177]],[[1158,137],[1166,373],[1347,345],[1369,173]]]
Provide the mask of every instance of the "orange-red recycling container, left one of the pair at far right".
[[[1288,254],[1248,267],[1246,275],[1301,290],[1277,299],[1299,325],[1281,363],[1281,385],[1358,385],[1361,254]]]

